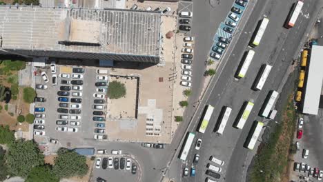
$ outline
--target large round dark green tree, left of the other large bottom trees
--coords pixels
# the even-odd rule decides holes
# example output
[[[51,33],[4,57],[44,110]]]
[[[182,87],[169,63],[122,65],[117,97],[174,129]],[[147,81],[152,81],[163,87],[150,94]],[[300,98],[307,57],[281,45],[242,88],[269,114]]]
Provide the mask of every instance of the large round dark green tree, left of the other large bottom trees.
[[[9,144],[6,161],[10,173],[26,178],[32,168],[43,165],[43,154],[34,141],[18,140]]]

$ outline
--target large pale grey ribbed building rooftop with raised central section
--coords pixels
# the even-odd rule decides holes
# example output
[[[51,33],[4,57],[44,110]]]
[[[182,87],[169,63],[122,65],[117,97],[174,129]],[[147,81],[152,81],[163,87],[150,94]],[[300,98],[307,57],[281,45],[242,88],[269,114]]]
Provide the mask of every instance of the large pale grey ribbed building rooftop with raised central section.
[[[159,57],[160,13],[0,7],[1,48]]]

